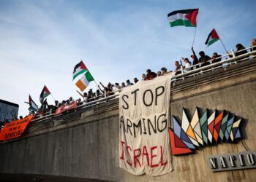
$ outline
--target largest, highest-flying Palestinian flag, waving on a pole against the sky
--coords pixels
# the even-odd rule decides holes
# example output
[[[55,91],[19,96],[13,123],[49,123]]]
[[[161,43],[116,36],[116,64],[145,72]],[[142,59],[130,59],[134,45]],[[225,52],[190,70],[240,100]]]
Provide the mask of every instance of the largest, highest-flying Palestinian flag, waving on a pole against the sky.
[[[198,11],[199,9],[184,9],[170,12],[167,15],[170,27],[179,25],[196,27]]]

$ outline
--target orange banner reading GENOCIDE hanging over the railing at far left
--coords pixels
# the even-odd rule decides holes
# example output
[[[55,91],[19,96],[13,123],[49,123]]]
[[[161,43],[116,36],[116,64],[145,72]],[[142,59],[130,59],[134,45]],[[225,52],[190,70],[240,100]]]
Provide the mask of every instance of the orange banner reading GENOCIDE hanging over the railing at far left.
[[[33,118],[34,116],[26,116],[24,119],[19,119],[5,124],[4,128],[0,132],[0,141],[20,137]]]

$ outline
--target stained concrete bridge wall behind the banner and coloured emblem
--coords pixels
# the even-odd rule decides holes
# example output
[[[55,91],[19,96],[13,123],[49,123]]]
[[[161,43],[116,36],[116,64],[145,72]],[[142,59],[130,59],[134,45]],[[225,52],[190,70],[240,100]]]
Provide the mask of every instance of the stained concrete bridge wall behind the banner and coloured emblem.
[[[118,167],[118,100],[111,100],[65,116],[32,122],[22,138],[1,142],[0,178],[13,181],[32,181],[31,176],[41,181],[256,181],[255,169],[212,173],[206,164],[209,155],[256,150],[255,95],[256,60],[173,82],[171,115],[181,119],[182,108],[187,109],[190,118],[195,107],[201,112],[206,108],[225,109],[244,118],[243,140],[218,143],[203,147],[195,154],[173,157],[174,170],[167,175],[135,176]],[[21,175],[23,178],[18,178]]]

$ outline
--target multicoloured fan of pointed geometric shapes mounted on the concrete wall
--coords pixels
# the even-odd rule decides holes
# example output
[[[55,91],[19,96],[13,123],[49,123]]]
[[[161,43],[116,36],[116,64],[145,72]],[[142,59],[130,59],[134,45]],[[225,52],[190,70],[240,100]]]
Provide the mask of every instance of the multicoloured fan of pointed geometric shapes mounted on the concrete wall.
[[[219,141],[235,141],[241,138],[239,130],[242,118],[233,116],[227,111],[215,110],[211,115],[209,111],[198,114],[198,108],[191,121],[185,109],[182,110],[181,124],[173,116],[173,129],[169,128],[170,146],[173,155],[191,154],[200,146],[206,146]],[[237,119],[238,118],[238,119]]]

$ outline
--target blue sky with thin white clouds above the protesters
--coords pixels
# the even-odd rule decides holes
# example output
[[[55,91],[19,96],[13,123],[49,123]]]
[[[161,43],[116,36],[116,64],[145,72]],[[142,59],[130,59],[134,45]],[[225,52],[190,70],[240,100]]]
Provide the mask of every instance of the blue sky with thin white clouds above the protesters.
[[[44,85],[53,95],[48,103],[77,99],[72,71],[80,60],[105,85],[140,79],[148,68],[174,70],[176,60],[190,58],[195,33],[170,28],[167,14],[179,9],[199,8],[195,52],[225,54],[220,41],[204,44],[212,28],[227,50],[238,43],[249,47],[256,37],[255,7],[254,0],[0,0],[0,99],[18,103],[23,116],[29,94],[39,105]]]

